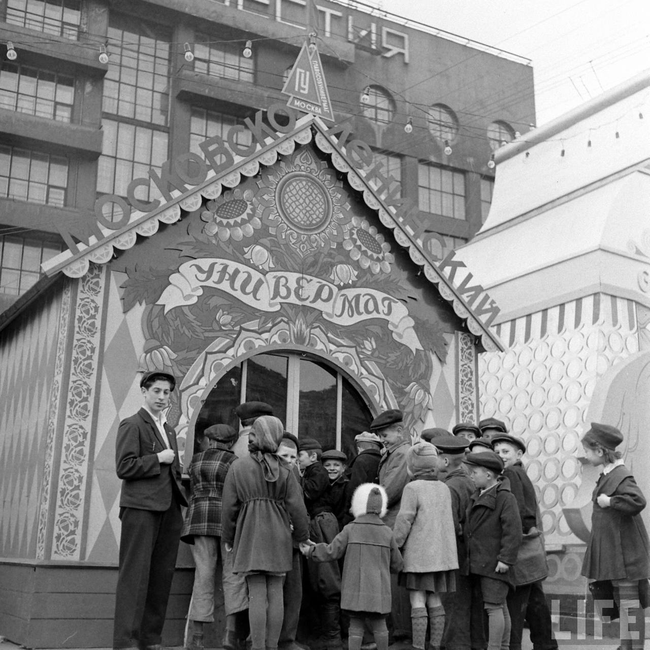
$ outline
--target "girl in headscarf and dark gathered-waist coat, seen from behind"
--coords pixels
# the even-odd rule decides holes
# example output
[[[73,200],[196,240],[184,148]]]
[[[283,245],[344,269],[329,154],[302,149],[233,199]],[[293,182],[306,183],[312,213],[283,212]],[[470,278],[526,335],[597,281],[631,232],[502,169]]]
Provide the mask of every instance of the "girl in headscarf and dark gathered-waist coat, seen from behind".
[[[233,571],[246,576],[253,650],[278,647],[282,580],[292,568],[289,519],[296,541],[309,538],[298,481],[276,456],[283,432],[277,417],[259,417],[248,434],[248,457],[233,463],[224,485],[222,539]]]

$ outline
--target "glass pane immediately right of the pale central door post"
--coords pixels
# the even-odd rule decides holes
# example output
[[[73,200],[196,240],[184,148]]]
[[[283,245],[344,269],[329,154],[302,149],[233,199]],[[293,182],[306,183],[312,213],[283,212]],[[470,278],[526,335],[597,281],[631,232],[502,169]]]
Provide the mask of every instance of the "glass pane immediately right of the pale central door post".
[[[337,373],[323,363],[300,359],[298,439],[317,439],[323,450],[336,447]]]

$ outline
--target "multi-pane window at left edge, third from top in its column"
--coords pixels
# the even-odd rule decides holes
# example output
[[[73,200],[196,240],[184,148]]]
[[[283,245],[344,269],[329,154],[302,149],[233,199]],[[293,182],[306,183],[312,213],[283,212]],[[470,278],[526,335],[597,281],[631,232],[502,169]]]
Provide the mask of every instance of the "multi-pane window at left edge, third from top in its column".
[[[68,159],[0,145],[0,197],[63,207]]]

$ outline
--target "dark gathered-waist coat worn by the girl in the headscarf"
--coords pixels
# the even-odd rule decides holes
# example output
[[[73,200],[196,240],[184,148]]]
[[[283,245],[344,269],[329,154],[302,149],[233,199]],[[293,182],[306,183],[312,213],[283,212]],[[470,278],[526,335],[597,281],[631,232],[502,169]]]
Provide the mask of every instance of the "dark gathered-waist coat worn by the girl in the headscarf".
[[[306,541],[307,511],[291,469],[279,465],[278,480],[267,482],[253,458],[239,458],[224,484],[222,540],[233,546],[233,573],[286,573],[292,568],[294,538]]]

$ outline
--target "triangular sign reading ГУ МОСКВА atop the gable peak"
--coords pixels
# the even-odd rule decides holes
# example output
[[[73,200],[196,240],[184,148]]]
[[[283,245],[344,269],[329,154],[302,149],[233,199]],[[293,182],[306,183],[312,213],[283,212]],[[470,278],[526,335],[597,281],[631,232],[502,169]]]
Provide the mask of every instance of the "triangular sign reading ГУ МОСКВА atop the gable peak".
[[[282,92],[289,95],[287,106],[334,122],[330,93],[316,45],[304,43]]]

